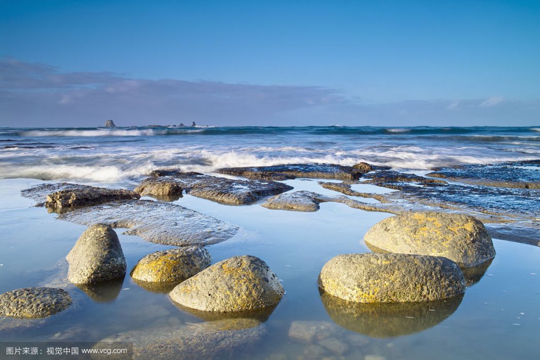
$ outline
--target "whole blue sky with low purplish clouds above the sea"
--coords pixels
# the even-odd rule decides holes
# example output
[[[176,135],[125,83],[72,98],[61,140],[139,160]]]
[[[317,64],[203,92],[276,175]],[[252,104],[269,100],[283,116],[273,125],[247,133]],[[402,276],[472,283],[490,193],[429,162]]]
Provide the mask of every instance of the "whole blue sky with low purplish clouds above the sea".
[[[0,126],[538,126],[540,1],[0,0]]]

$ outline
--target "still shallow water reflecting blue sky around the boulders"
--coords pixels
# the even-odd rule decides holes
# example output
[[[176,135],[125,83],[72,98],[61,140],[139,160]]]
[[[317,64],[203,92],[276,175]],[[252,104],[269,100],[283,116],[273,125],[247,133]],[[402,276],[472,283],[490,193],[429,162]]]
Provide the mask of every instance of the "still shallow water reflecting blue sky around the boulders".
[[[3,249],[0,292],[49,283],[59,274],[58,261],[84,230],[83,226],[55,220],[55,214],[31,207],[32,201],[19,195],[21,189],[40,182],[0,181],[4,200],[0,208]],[[316,185],[316,181],[299,179],[289,183],[296,189],[312,190]],[[207,247],[213,262],[234,255],[259,256],[279,276],[287,291],[265,322],[266,337],[256,349],[239,350],[234,354],[237,358],[303,356],[307,344],[288,336],[293,321],[337,324],[340,332],[336,337],[348,344],[343,356],[350,359],[370,354],[387,359],[433,359],[434,356],[534,359],[538,356],[540,249],[537,247],[495,239],[497,256],[480,281],[467,289],[461,302],[431,309],[436,311],[422,306],[398,309],[392,314],[392,327],[377,326],[378,332],[373,333],[366,327],[383,324],[386,310],[374,309],[364,315],[360,325],[351,325],[339,306],[323,303],[316,279],[323,264],[334,255],[369,251],[362,241],[363,234],[388,214],[363,212],[340,203],[322,203],[315,213],[287,212],[269,210],[258,203],[226,206],[190,195],[177,203],[241,227],[232,239]],[[117,229],[128,269],[144,255],[169,248],[137,236],[120,235],[121,232],[122,229]],[[46,323],[29,329],[0,330],[4,341],[98,341],[118,332],[201,321],[176,308],[166,294],[139,287],[129,275],[106,289],[74,291],[80,295],[79,303],[70,313],[52,316]],[[349,335],[358,331],[368,335],[363,333],[365,342],[354,347]],[[322,356],[332,356],[332,352]]]

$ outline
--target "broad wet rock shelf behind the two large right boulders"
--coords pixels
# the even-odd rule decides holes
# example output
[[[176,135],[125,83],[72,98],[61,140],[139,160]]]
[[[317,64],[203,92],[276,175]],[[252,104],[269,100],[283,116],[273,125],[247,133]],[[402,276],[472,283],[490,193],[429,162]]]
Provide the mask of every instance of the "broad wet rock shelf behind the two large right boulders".
[[[491,236],[497,239],[535,246],[540,244],[540,227],[535,216],[540,213],[540,202],[537,201],[540,191],[537,189],[442,184],[424,181],[425,178],[421,176],[417,179],[410,174],[393,178],[387,176],[388,173],[369,173],[366,177],[370,179],[365,181],[319,184],[346,195],[378,200],[381,203],[370,204],[373,211],[393,214],[410,210],[468,214],[484,222]],[[404,179],[409,181],[402,181]],[[370,184],[397,191],[386,194],[362,193],[351,189],[354,184]]]

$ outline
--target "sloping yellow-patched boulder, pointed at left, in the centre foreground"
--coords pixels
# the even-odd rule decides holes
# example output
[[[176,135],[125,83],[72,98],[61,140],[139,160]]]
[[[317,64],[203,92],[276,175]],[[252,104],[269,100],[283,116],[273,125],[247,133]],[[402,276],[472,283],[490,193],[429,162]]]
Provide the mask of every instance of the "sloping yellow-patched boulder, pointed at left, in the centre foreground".
[[[255,256],[233,256],[180,283],[169,296],[203,311],[249,311],[272,307],[285,290],[268,265]]]

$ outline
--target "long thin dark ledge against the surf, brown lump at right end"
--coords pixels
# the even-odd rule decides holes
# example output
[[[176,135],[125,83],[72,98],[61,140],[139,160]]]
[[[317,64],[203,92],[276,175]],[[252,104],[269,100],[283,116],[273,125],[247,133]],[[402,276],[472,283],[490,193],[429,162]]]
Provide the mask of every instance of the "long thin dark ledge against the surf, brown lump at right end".
[[[221,174],[243,176],[249,179],[287,180],[296,178],[319,178],[357,180],[362,174],[371,171],[373,167],[366,163],[355,166],[336,164],[288,164],[257,167],[221,168]]]

